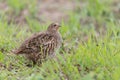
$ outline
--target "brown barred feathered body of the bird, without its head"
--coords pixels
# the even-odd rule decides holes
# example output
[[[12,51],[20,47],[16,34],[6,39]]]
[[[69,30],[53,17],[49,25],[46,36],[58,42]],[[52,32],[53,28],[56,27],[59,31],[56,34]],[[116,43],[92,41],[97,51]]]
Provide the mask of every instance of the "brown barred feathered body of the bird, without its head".
[[[49,33],[35,34],[27,39],[18,49],[16,54],[25,54],[33,63],[42,62],[47,56],[52,55],[60,47],[61,37]]]

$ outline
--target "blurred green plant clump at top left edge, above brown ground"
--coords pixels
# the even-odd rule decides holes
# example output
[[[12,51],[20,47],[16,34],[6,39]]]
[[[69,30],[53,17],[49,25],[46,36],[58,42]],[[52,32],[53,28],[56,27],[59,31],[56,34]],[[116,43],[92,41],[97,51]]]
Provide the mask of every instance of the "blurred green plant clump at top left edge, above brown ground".
[[[13,11],[18,15],[22,10],[28,10],[29,13],[35,15],[37,0],[7,0],[8,5],[13,9]]]

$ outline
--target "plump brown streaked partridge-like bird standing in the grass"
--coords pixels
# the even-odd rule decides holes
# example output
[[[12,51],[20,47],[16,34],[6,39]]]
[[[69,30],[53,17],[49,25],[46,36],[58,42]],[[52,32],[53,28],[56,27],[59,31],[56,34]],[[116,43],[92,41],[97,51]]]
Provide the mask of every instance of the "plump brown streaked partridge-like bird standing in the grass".
[[[33,64],[42,63],[48,56],[55,55],[62,45],[62,36],[59,32],[61,25],[51,23],[46,31],[38,32],[27,38],[14,54],[25,54]]]

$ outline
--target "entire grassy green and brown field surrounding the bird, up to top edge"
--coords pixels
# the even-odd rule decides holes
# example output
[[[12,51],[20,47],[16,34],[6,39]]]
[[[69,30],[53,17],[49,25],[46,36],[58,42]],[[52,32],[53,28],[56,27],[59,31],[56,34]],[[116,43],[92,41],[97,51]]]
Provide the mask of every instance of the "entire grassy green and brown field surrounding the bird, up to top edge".
[[[59,61],[41,66],[11,50],[62,25]],[[0,80],[119,80],[120,0],[0,0]]]

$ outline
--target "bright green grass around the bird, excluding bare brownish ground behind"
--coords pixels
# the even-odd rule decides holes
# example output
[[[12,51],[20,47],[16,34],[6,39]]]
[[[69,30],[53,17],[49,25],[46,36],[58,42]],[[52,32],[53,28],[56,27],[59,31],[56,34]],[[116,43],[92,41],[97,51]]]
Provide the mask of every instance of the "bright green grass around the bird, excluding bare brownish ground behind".
[[[18,13],[27,1],[17,5],[19,0],[6,0]],[[111,9],[113,1],[87,2],[83,9],[77,9],[79,12],[69,12],[68,22],[61,22],[64,42],[56,53],[59,60],[49,59],[41,66],[27,67],[26,58],[12,54],[11,50],[31,34],[45,30],[50,22],[41,25],[35,19],[26,18],[27,26],[8,24],[4,19],[6,15],[2,14],[0,65],[4,66],[0,67],[0,80],[119,80],[120,22]]]

